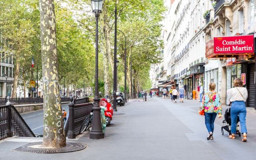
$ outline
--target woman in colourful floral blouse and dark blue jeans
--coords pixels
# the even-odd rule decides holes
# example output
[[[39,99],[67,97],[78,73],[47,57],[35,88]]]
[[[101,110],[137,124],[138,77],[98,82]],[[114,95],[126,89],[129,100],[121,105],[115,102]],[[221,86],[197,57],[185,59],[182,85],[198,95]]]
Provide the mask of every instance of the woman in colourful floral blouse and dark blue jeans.
[[[210,83],[209,90],[204,94],[202,99],[202,106],[200,107],[201,110],[204,110],[205,113],[205,125],[209,132],[209,136],[207,140],[213,140],[213,130],[214,130],[214,120],[218,114],[218,117],[222,117],[222,108],[220,106],[220,96],[215,91],[216,84]]]

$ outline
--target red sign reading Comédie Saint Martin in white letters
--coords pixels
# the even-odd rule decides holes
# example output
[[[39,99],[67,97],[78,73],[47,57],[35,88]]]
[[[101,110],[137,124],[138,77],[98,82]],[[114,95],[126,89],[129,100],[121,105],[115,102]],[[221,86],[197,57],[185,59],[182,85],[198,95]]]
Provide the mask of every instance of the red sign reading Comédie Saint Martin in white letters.
[[[254,52],[254,35],[214,37],[215,54]]]

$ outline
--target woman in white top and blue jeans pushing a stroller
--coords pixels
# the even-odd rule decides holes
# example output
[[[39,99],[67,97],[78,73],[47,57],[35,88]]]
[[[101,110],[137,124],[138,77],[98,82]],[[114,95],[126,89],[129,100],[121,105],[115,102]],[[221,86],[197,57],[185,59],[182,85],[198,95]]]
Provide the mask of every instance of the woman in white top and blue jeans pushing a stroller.
[[[228,100],[231,104],[231,135],[228,138],[235,139],[236,134],[236,122],[237,115],[239,115],[241,132],[243,133],[242,142],[246,142],[246,99],[248,97],[248,91],[243,86],[243,82],[240,78],[234,80],[234,88],[230,89]]]

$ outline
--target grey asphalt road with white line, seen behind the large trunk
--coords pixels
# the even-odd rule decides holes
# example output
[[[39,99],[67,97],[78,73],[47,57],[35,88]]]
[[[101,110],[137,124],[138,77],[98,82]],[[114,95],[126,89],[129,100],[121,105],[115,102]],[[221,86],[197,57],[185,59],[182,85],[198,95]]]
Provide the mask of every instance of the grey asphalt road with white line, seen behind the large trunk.
[[[62,108],[65,108],[68,114],[68,104],[62,104]],[[22,118],[36,135],[43,134],[43,114],[43,110],[21,114]]]

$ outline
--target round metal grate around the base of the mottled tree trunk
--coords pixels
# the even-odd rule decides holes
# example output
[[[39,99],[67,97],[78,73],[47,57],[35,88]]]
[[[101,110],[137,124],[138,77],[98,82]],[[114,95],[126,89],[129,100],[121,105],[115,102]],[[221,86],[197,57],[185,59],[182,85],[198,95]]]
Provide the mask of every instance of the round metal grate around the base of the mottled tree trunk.
[[[67,142],[67,145],[62,148],[40,148],[42,142],[28,143],[18,148],[13,149],[16,152],[27,153],[64,153],[74,152],[86,148],[84,144]]]

